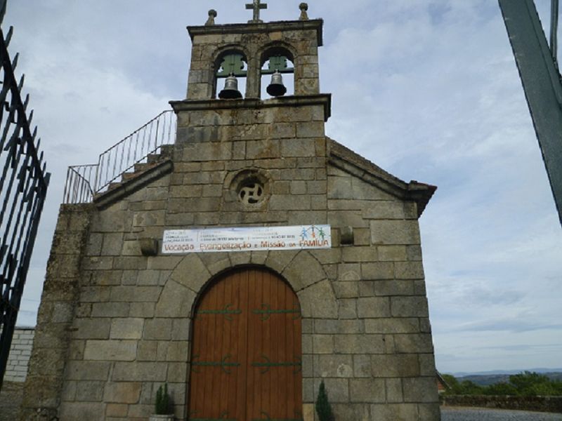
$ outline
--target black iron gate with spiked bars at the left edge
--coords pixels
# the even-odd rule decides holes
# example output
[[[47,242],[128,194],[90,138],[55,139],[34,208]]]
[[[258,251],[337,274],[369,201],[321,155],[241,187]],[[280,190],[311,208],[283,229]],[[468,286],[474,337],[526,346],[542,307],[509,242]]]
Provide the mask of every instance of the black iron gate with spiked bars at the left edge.
[[[5,12],[0,0],[0,24]],[[37,127],[30,131],[30,96],[22,101],[24,77],[15,79],[18,55],[12,62],[8,53],[12,34],[0,29],[0,389],[50,178]]]

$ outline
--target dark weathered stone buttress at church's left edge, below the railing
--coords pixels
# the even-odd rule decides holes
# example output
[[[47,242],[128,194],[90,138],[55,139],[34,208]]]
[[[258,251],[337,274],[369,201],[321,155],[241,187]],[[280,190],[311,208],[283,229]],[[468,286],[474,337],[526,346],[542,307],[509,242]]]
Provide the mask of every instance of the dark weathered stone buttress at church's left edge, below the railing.
[[[52,420],[58,414],[91,210],[91,205],[60,208],[24,387],[22,421]]]

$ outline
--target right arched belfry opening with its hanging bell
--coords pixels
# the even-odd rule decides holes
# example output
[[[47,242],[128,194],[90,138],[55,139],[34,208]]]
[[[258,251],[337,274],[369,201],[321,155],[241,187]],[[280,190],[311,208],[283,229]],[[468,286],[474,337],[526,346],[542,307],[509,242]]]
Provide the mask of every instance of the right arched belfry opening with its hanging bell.
[[[261,56],[261,98],[294,95],[294,55],[283,47]]]

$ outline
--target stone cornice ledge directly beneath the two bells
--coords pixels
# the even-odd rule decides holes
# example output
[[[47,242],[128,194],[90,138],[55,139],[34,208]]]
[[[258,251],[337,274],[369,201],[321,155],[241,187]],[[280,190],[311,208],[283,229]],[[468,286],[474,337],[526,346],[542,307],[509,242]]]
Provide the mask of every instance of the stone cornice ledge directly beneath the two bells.
[[[304,107],[307,105],[322,105],[324,107],[324,121],[332,114],[332,94],[320,93],[318,95],[290,95],[259,100],[254,98],[242,100],[183,100],[170,101],[176,114],[181,111],[200,111],[212,109],[259,109],[274,107]]]

